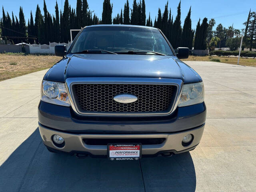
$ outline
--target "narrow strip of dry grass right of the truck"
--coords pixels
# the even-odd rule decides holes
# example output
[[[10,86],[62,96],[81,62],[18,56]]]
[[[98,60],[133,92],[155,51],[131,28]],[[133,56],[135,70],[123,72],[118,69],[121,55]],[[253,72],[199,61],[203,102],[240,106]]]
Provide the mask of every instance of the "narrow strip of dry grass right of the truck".
[[[182,59],[182,61],[214,61],[220,60],[222,63],[237,64],[238,58],[231,57],[218,57],[218,56],[189,56],[188,59]],[[240,58],[240,65],[256,67],[256,58]]]

